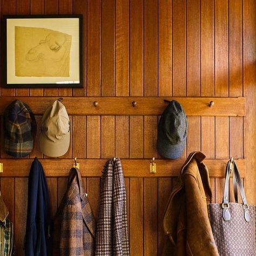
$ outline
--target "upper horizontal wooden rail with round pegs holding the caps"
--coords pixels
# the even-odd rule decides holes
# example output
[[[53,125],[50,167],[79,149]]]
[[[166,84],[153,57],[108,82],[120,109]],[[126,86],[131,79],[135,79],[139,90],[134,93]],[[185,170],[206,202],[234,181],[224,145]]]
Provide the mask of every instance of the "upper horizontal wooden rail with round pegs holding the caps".
[[[13,100],[21,99],[34,114],[43,114],[58,97],[0,97],[0,114]],[[178,100],[187,116],[245,116],[245,97],[64,97],[69,114],[77,115],[158,115],[167,103]]]

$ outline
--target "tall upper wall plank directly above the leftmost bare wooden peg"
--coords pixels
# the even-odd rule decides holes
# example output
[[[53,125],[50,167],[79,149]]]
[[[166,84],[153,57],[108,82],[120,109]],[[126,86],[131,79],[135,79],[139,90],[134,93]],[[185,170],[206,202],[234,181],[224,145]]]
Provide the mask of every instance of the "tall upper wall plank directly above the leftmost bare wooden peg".
[[[100,96],[100,6],[87,1],[87,96]]]

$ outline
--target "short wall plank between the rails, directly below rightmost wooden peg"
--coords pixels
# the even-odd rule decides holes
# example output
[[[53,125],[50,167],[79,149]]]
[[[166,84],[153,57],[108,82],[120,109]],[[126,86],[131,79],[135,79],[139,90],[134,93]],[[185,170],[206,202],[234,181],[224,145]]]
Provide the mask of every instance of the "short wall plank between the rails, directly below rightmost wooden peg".
[[[215,158],[215,118],[201,117],[201,151],[207,158]]]

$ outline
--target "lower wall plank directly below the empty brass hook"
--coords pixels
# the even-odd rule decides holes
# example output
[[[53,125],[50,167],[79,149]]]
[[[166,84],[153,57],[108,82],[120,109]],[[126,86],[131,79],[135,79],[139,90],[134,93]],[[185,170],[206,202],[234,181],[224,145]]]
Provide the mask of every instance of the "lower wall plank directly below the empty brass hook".
[[[157,178],[144,178],[144,255],[157,255],[157,199]]]

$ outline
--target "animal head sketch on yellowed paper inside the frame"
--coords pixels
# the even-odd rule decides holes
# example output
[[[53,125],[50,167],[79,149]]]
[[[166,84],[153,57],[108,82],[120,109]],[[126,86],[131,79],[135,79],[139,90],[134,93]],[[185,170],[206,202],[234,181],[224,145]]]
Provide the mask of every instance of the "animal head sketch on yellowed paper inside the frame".
[[[66,33],[15,26],[15,75],[69,77],[71,43]]]

